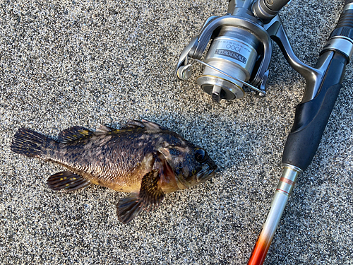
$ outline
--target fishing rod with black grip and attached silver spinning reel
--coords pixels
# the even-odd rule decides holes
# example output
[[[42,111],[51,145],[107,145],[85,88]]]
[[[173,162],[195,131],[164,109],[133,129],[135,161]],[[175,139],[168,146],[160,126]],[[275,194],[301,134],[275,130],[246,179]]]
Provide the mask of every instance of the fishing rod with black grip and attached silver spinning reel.
[[[205,65],[197,78],[213,102],[244,97],[247,90],[265,97],[273,41],[292,68],[306,80],[304,96],[282,155],[283,171],[270,212],[263,224],[249,265],[263,264],[297,177],[313,160],[337,100],[345,67],[353,54],[353,0],[345,6],[314,67],[294,54],[278,12],[289,0],[230,0],[225,16],[211,16],[201,32],[181,52],[175,76],[191,78],[196,62]],[[204,60],[201,57],[210,43]]]

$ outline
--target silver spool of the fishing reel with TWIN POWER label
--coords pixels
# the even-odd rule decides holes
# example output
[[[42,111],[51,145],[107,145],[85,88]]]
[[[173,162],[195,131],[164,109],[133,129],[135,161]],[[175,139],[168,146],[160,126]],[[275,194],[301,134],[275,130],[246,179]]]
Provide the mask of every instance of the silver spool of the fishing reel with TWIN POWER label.
[[[249,81],[251,77],[258,59],[259,46],[259,40],[249,31],[233,26],[222,27],[210,45],[204,61],[237,78],[231,78],[205,66],[203,75],[197,79],[198,85],[205,93],[211,95],[215,102],[243,98],[244,82]]]

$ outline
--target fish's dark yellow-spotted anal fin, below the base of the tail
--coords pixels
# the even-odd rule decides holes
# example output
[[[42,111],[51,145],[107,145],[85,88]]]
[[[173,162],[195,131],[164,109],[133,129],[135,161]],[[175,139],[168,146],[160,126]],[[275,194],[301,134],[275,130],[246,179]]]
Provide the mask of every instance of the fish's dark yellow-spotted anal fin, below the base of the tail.
[[[47,185],[53,191],[71,192],[88,187],[90,181],[71,171],[63,171],[50,176]]]

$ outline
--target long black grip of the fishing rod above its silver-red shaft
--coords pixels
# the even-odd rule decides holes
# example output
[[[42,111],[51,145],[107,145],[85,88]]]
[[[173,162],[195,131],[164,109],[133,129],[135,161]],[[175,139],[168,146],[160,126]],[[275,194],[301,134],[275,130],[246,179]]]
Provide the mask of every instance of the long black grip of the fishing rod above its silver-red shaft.
[[[340,93],[346,64],[347,57],[335,53],[316,97],[297,105],[282,163],[294,165],[303,171],[310,165]]]

